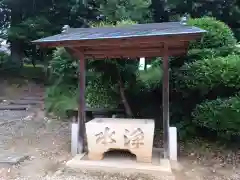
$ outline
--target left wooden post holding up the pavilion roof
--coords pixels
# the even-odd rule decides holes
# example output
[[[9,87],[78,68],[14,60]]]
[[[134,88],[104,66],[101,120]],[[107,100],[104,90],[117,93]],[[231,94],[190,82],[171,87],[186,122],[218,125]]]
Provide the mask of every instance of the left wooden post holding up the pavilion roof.
[[[85,59],[82,53],[78,53],[79,59],[79,108],[78,108],[78,129],[79,145],[78,153],[83,153],[85,145]]]

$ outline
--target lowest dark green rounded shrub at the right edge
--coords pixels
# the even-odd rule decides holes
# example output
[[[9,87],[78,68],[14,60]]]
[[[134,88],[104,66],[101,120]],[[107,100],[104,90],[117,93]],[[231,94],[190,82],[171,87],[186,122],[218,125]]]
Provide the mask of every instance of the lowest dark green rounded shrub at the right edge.
[[[197,105],[192,113],[198,126],[216,131],[219,136],[240,136],[240,96],[216,99]]]

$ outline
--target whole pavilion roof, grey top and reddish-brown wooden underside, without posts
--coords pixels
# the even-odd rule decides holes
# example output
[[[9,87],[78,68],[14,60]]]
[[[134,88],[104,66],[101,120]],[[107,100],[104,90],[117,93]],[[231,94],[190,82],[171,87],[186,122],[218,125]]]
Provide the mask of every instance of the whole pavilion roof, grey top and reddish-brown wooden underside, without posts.
[[[206,32],[180,22],[124,25],[121,27],[69,28],[66,32],[33,41],[47,47],[65,47],[86,58],[169,56],[187,52],[189,41]]]

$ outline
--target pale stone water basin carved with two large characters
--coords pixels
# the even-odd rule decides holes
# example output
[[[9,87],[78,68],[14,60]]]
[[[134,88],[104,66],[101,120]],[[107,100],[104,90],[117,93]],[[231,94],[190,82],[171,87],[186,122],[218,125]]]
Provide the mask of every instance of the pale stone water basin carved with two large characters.
[[[86,123],[88,157],[101,160],[104,153],[129,150],[139,162],[152,161],[154,120],[96,118]]]

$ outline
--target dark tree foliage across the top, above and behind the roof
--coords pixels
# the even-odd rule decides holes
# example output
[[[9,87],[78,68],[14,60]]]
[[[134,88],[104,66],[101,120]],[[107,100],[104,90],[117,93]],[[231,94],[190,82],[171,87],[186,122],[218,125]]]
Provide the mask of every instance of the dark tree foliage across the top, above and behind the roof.
[[[161,22],[187,13],[194,18],[214,16],[237,32],[239,4],[239,0],[0,0],[0,28],[2,37],[11,43],[11,59],[16,63],[24,56],[40,58],[31,40],[60,32],[65,24],[82,27],[89,26],[89,21],[115,24],[126,19]]]

